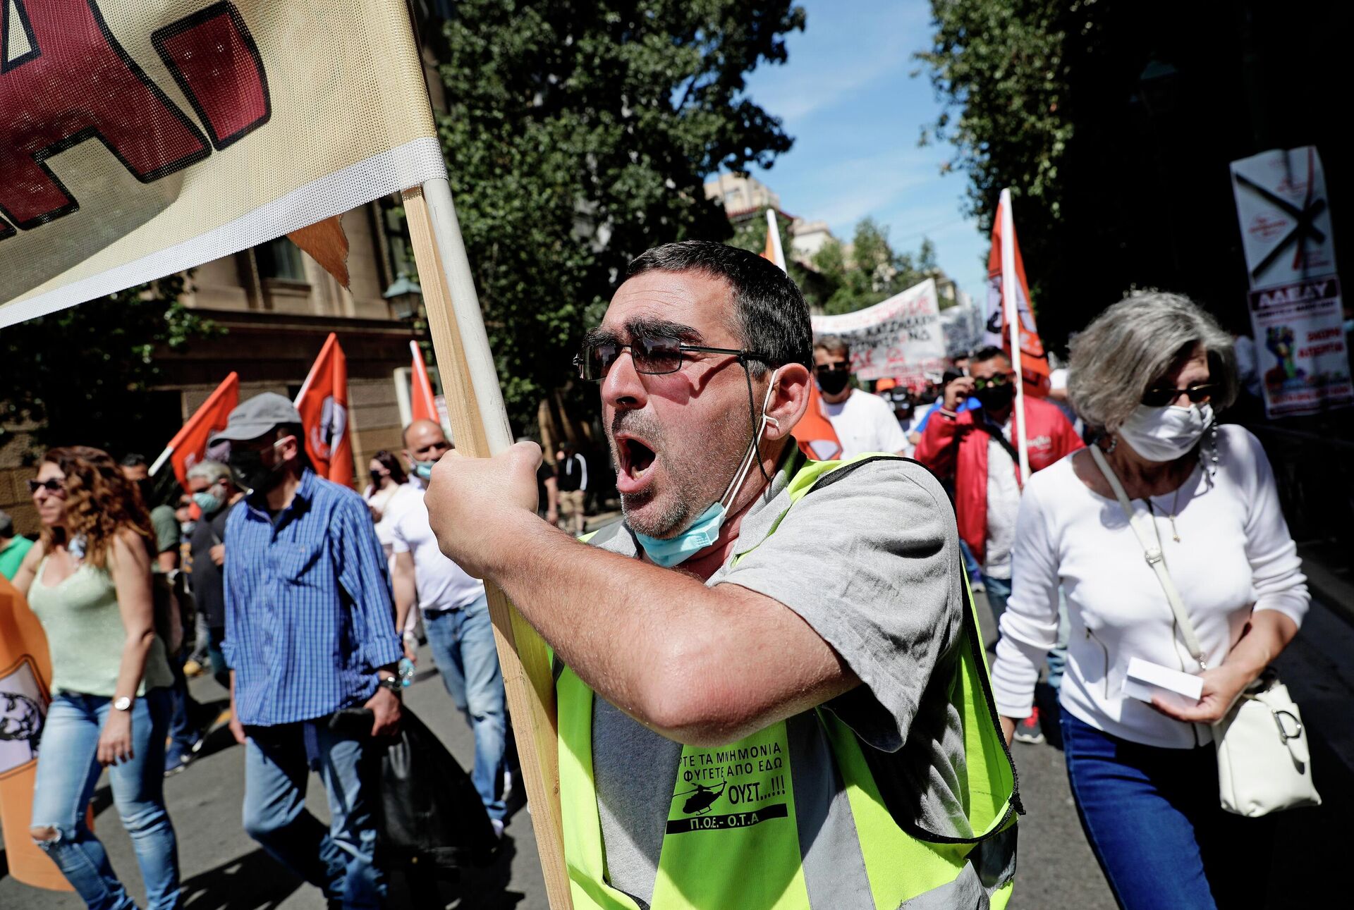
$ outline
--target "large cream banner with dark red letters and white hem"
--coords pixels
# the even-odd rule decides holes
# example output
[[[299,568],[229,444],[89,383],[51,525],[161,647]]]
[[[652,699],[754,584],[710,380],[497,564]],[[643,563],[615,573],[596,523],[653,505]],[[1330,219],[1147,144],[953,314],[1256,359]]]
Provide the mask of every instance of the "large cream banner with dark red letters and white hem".
[[[0,326],[447,176],[403,0],[0,4]]]

